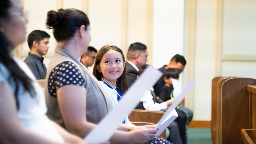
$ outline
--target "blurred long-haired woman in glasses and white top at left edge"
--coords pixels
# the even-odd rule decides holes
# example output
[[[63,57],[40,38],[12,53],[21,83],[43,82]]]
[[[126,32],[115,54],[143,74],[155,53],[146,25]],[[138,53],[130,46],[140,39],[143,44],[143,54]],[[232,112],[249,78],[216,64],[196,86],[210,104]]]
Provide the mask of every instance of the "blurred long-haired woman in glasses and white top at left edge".
[[[0,1],[0,143],[87,143],[47,118],[42,88],[11,56],[26,40],[27,23],[20,0]]]

